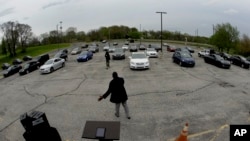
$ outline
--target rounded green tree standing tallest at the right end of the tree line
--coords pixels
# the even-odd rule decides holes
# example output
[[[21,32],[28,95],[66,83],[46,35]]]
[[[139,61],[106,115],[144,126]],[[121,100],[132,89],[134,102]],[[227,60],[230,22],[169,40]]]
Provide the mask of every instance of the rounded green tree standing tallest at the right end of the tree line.
[[[239,31],[230,23],[217,24],[215,26],[215,33],[211,36],[211,43],[215,45],[219,51],[227,52],[230,49],[236,48],[239,43]]]

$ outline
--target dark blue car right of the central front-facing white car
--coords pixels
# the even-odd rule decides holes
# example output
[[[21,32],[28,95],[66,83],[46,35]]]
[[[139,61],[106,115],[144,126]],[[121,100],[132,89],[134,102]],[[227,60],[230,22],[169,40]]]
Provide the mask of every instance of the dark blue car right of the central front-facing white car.
[[[180,66],[195,66],[195,60],[190,53],[184,51],[175,51],[172,56],[173,62]]]

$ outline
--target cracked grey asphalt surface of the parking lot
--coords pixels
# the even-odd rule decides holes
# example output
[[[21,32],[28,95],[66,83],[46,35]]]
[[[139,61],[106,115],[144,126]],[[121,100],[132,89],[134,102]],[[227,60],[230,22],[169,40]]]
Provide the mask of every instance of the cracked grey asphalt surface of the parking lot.
[[[88,62],[69,54],[65,67],[53,73],[1,79],[0,140],[24,141],[19,117],[33,110],[46,113],[63,141],[87,141],[81,136],[88,120],[120,121],[121,141],[174,141],[186,122],[189,141],[229,141],[230,124],[250,123],[248,69],[206,64],[196,47],[193,68],[173,63],[173,53],[163,47],[159,58],[150,58],[148,70],[131,70],[128,51],[125,60],[111,60],[106,69],[102,47]],[[113,71],[125,80],[130,120],[122,106],[115,117],[109,97],[97,101]]]

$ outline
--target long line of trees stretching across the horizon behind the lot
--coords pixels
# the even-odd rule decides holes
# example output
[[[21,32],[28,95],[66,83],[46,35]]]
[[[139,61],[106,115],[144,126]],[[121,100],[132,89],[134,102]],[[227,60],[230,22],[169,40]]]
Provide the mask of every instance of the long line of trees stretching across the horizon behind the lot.
[[[0,25],[3,32],[1,43],[1,53],[9,54],[13,57],[16,55],[16,49],[20,48],[21,52],[25,52],[27,47],[57,44],[57,43],[72,43],[72,42],[91,42],[113,39],[160,39],[161,32],[154,30],[138,31],[135,27],[117,26],[100,27],[89,32],[77,31],[76,27],[69,27],[65,31],[52,30],[36,36],[32,33],[32,28],[28,24],[8,21]],[[239,31],[230,23],[217,24],[215,32],[211,37],[192,36],[180,31],[162,32],[163,40],[176,40],[189,42],[205,43],[214,45],[219,51],[226,51],[250,55],[250,39],[247,35],[240,38]]]

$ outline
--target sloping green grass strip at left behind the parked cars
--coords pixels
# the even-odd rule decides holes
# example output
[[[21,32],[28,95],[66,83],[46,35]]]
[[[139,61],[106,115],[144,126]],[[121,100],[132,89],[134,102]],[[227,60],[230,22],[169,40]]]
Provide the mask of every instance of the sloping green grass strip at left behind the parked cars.
[[[22,59],[23,56],[25,55],[35,57],[40,54],[44,54],[44,53],[57,50],[60,48],[66,48],[69,46],[70,44],[67,43],[67,44],[51,44],[51,45],[44,45],[44,46],[28,47],[25,53],[21,53],[21,50],[17,49],[16,51],[17,55],[14,58],[9,57],[9,55],[0,55],[0,64],[2,65],[2,63],[5,63],[5,62],[11,64],[12,60],[14,60],[15,58]]]

